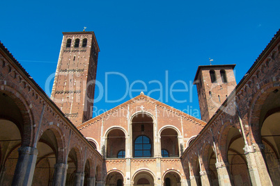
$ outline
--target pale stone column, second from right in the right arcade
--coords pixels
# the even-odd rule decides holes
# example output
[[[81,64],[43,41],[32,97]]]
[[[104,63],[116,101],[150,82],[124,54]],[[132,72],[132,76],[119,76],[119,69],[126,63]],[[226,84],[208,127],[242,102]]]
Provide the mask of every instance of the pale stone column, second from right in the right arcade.
[[[219,185],[227,186],[231,185],[231,176],[229,173],[229,164],[228,162],[216,162],[216,169],[218,173]]]

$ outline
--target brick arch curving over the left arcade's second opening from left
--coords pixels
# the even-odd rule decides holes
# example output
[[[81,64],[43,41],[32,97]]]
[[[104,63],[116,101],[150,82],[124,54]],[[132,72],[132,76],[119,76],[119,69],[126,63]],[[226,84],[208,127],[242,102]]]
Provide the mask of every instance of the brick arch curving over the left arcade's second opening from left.
[[[65,162],[66,158],[66,151],[60,151],[60,149],[65,149],[66,147],[66,142],[65,142],[65,137],[63,137],[63,132],[61,131],[61,128],[59,128],[56,125],[51,125],[45,128],[45,130],[40,133],[40,136],[38,137],[38,141],[40,140],[40,137],[42,136],[43,133],[47,130],[52,130],[52,133],[54,133],[54,136],[56,137],[56,144],[57,144],[57,162],[56,163],[63,163]]]

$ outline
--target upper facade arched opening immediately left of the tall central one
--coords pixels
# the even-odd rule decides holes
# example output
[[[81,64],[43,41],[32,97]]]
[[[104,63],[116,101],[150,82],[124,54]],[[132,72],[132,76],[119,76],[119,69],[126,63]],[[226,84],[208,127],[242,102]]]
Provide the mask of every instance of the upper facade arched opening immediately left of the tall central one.
[[[107,135],[107,158],[120,158],[118,153],[125,149],[125,133],[120,129],[112,129]],[[123,153],[122,153],[123,155]],[[125,157],[121,157],[125,158]]]

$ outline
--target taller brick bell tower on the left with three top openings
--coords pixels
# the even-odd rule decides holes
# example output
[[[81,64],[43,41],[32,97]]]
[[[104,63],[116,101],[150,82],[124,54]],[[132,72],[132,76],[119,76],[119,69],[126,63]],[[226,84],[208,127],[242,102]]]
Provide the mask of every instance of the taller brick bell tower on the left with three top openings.
[[[51,99],[75,126],[92,118],[99,51],[93,32],[63,33]]]

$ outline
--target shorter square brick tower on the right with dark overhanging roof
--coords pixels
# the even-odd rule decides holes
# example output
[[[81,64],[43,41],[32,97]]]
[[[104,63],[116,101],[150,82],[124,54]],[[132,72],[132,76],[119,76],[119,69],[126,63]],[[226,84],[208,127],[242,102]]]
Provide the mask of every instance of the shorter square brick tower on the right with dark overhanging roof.
[[[199,94],[201,120],[208,122],[236,87],[235,65],[199,66],[194,78]]]

